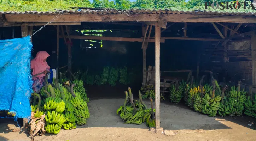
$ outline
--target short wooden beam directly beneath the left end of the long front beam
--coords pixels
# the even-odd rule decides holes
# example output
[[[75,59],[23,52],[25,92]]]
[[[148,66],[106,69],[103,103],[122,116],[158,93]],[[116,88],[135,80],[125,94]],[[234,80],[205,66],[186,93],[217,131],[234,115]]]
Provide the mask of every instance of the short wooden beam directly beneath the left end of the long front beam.
[[[28,22],[28,26],[43,26],[46,25],[48,22]],[[5,22],[2,27],[10,27],[10,26],[21,26],[24,23],[17,23],[17,22]],[[48,25],[81,25],[81,22],[52,22]]]

